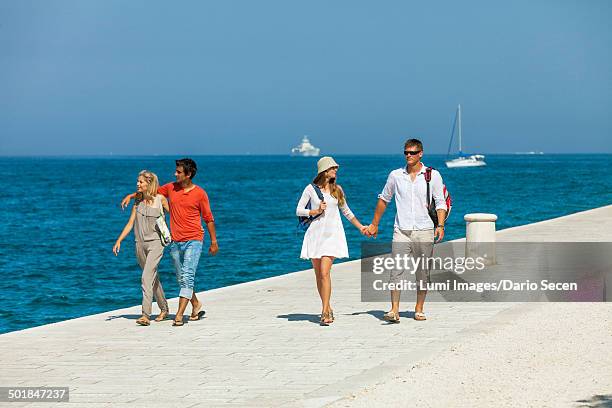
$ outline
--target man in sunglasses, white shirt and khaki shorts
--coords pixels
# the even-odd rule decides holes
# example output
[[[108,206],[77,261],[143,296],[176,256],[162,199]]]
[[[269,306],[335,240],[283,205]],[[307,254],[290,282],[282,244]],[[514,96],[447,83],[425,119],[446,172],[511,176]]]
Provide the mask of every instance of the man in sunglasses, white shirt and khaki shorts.
[[[387,205],[395,196],[395,225],[393,228],[393,253],[408,253],[414,257],[425,256],[427,259],[433,253],[434,239],[440,242],[444,238],[444,221],[446,220],[446,201],[442,176],[437,170],[431,171],[429,183],[430,194],[435,203],[439,224],[434,230],[434,223],[427,211],[427,182],[425,171],[427,166],[421,163],[423,157],[423,143],[418,139],[409,139],[404,144],[404,155],[406,167],[393,170],[389,173],[387,183],[381,194],[378,195],[378,203],[374,212],[374,218],[369,225],[367,234],[376,237],[378,224]],[[429,282],[429,268],[423,263],[419,264],[413,273],[417,279],[417,301],[414,308],[415,320],[426,320],[423,313],[425,296],[427,295],[426,283]],[[397,283],[403,277],[403,271],[392,271],[391,282]],[[404,278],[405,279],[405,278]],[[400,291],[391,291],[391,310],[384,315],[384,319],[399,323]]]

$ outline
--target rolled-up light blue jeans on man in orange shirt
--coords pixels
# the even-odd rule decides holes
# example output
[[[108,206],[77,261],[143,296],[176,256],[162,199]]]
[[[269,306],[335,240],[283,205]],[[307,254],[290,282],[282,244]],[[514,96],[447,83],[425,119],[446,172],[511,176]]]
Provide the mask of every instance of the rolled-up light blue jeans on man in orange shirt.
[[[174,262],[176,280],[181,291],[179,296],[191,299],[195,282],[195,271],[202,254],[202,241],[184,241],[170,244],[170,256]],[[183,258],[181,261],[181,257]]]

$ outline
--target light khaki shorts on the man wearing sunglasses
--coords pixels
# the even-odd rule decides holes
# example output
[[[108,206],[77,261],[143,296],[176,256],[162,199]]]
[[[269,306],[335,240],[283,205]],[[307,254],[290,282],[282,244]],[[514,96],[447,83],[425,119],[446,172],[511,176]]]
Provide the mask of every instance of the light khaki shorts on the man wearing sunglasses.
[[[429,283],[429,267],[426,261],[433,255],[433,242],[433,229],[400,230],[395,228],[391,255],[394,258],[397,255],[404,258],[406,255],[408,267],[391,270],[389,282],[397,284],[402,280],[415,279],[419,287]]]

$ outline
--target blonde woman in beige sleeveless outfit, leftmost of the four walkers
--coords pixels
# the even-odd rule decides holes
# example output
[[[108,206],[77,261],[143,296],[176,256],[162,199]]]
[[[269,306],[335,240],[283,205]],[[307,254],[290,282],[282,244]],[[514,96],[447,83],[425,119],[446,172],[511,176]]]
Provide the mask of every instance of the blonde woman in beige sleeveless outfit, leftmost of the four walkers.
[[[157,266],[164,254],[164,247],[156,223],[164,210],[168,212],[168,201],[164,196],[157,194],[158,187],[159,181],[154,173],[143,170],[138,174],[137,196],[130,219],[113,246],[113,252],[117,255],[121,249],[121,241],[134,228],[136,258],[142,268],[142,316],[136,320],[141,326],[148,326],[151,322],[153,296],[161,310],[155,321],[160,322],[168,316],[168,302],[157,274]]]

